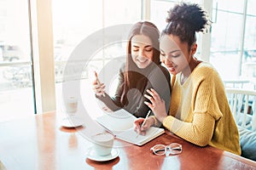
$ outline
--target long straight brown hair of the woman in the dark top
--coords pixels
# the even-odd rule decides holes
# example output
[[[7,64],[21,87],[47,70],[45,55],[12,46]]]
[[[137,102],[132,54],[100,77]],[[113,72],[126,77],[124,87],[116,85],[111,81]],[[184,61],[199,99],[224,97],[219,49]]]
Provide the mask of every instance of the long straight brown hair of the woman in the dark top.
[[[131,27],[131,31],[129,33],[128,42],[127,42],[127,56],[126,56],[126,64],[125,64],[125,83],[123,88],[123,93],[121,96],[121,103],[126,105],[128,100],[126,99],[126,94],[131,88],[136,88],[137,80],[143,78],[143,75],[138,73],[137,71],[133,71],[131,68],[132,65],[136,65],[131,59],[131,38],[136,35],[144,35],[149,37],[152,42],[154,54],[152,61],[155,65],[160,65],[160,31],[158,28],[151,22],[148,21],[139,21],[134,26]],[[145,68],[147,69],[147,68]],[[145,77],[146,78],[146,77]],[[146,79],[145,79],[146,80]],[[145,85],[146,86],[146,81]],[[142,90],[142,89],[139,89]]]

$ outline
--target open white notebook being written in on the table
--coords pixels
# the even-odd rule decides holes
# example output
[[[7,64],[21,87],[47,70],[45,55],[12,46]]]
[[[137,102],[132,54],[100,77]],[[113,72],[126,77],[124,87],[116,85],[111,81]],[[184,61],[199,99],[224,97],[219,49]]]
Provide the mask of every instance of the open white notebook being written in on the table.
[[[96,121],[112,133],[117,139],[124,140],[131,144],[143,145],[150,140],[165,133],[163,128],[150,127],[145,136],[138,135],[134,131],[133,122],[136,117],[128,111],[121,109],[96,118]]]

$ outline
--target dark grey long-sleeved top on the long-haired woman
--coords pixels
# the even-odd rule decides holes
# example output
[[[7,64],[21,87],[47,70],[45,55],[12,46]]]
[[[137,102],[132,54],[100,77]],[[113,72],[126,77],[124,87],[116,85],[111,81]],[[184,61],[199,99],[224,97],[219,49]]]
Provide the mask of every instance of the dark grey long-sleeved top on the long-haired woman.
[[[143,74],[147,79],[141,78],[136,81],[136,88],[132,88],[128,91],[127,99],[128,105],[123,105],[121,103],[121,95],[123,93],[124,83],[125,83],[125,64],[119,69],[119,83],[118,88],[116,89],[115,95],[110,97],[105,93],[105,97],[100,96],[98,99],[108,106],[112,111],[117,111],[121,108],[129,111],[131,114],[137,117],[145,117],[150,110],[147,105],[144,104],[144,101],[148,101],[144,97],[144,94],[149,88],[154,88],[154,90],[160,94],[160,98],[164,99],[166,102],[166,112],[169,111],[169,104],[171,98],[171,85],[170,85],[170,74],[162,65],[155,65],[154,63],[148,65],[145,69],[136,68],[135,71]],[[144,81],[147,81],[146,83]],[[138,89],[141,89],[138,90]],[[142,93],[141,93],[142,92]],[[151,113],[154,115],[154,113]]]

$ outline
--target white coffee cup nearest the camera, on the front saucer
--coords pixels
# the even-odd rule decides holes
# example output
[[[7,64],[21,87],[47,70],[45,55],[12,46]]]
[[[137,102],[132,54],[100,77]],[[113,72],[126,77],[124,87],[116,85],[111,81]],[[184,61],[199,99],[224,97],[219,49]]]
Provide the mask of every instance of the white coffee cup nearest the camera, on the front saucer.
[[[108,156],[113,148],[113,135],[110,133],[97,133],[91,137],[94,150],[98,156]]]

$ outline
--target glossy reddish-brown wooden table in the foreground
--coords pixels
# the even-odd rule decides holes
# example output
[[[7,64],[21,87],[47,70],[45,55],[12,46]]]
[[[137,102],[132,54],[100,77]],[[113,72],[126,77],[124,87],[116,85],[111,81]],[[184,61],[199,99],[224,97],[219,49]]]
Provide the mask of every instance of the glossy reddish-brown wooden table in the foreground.
[[[100,130],[90,118],[79,128],[61,127],[55,112],[0,123],[0,161],[6,169],[256,169],[256,162],[211,146],[199,147],[166,132],[143,146],[115,140],[119,156],[91,161],[84,134]],[[85,135],[86,136],[86,135]],[[177,156],[155,156],[154,144],[183,145]],[[115,146],[117,147],[117,146]],[[1,167],[1,166],[0,166]]]

